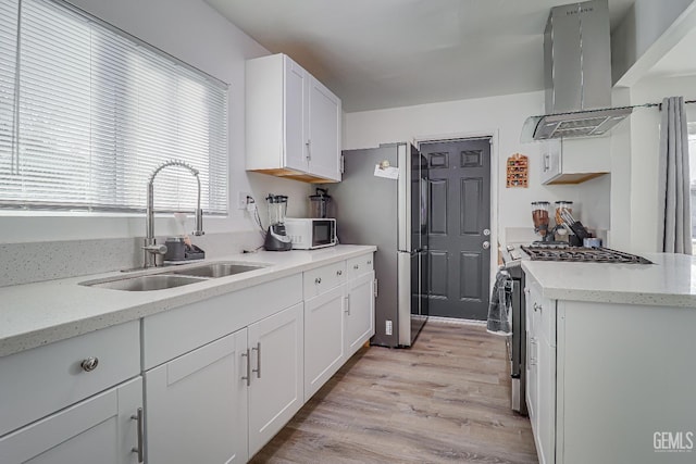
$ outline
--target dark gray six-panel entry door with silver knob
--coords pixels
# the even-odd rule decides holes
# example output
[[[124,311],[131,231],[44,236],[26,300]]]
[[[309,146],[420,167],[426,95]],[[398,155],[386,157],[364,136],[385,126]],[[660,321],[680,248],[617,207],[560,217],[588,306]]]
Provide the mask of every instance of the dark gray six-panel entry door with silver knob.
[[[430,173],[430,314],[483,321],[490,276],[490,139],[421,143]]]

